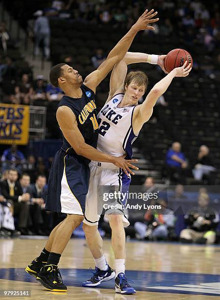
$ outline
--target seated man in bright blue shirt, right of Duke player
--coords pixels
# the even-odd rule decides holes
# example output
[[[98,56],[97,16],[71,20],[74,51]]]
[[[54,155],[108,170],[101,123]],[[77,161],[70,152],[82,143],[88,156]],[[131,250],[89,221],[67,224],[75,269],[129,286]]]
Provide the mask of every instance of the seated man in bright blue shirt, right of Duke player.
[[[187,167],[185,155],[181,152],[181,145],[178,142],[172,144],[166,155],[166,168],[169,183],[185,183],[184,170]]]

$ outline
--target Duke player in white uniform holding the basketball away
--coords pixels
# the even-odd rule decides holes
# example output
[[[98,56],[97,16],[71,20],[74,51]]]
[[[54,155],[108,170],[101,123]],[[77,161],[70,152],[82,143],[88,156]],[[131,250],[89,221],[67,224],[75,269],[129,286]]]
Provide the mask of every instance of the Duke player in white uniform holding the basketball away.
[[[167,90],[174,77],[185,77],[191,71],[186,63],[176,68],[156,83],[149,92],[146,100],[138,105],[138,100],[144,95],[148,77],[141,71],[130,72],[127,76],[127,65],[138,62],[159,63],[164,70],[165,55],[157,56],[145,53],[128,52],[124,59],[115,65],[110,78],[110,94],[104,107],[98,114],[99,137],[97,149],[110,155],[126,155],[132,158],[132,143],[139,131],[152,113],[156,100]],[[162,63],[161,63],[162,61]],[[118,186],[122,192],[127,192],[131,176],[122,170],[116,169],[113,164],[91,161],[89,190],[86,201],[84,231],[88,247],[95,260],[94,275],[83,286],[98,286],[102,281],[110,280],[115,276],[114,271],[107,264],[102,249],[102,238],[97,230],[100,212],[97,211],[98,186]],[[120,202],[120,201],[119,201]],[[125,204],[121,201],[120,203]],[[121,294],[134,294],[125,276],[125,231],[124,226],[129,221],[123,214],[123,209],[116,214],[106,212],[111,227],[111,243],[115,256],[115,291]]]

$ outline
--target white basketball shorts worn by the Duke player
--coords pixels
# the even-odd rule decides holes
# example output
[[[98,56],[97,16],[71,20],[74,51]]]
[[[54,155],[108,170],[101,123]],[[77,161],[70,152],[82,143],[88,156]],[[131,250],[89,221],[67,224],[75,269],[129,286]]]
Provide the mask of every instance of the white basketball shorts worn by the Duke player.
[[[103,201],[103,190],[105,191],[106,186],[106,191],[108,191],[109,193],[114,191],[116,191],[117,193],[126,193],[129,191],[131,177],[127,176],[124,171],[122,171],[120,168],[117,168],[112,163],[100,163],[91,161],[89,163],[89,169],[89,188],[86,199],[85,219],[83,220],[83,222],[90,226],[98,225],[100,216],[102,214],[102,208],[104,207],[106,208],[104,210],[106,218],[108,218],[110,214],[120,214],[122,215],[124,227],[130,225],[128,219],[125,216],[124,210],[127,199],[124,201],[124,203],[122,203],[118,199],[115,199],[115,201],[119,205],[115,205],[114,208],[111,209],[111,205],[109,205],[110,203],[105,202],[105,200]],[[106,206],[103,204],[105,204]]]

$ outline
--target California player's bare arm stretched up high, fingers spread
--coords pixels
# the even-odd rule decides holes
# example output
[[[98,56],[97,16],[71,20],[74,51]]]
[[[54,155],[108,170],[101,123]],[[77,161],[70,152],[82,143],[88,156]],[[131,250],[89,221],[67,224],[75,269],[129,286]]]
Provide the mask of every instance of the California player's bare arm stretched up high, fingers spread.
[[[146,10],[132,26],[129,32],[110,51],[107,59],[98,67],[96,71],[92,72],[86,77],[84,84],[95,92],[99,83],[107,76],[114,65],[125,56],[137,32],[144,29],[154,30],[154,27],[148,26],[148,24],[159,20],[158,18],[152,19],[156,14],[157,12],[154,12],[154,9],[152,9],[150,12]]]

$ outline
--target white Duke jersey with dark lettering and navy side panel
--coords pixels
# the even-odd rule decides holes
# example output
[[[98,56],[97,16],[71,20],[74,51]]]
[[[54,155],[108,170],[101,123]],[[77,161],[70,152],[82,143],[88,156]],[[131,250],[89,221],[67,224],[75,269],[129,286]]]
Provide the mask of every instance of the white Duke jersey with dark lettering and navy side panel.
[[[133,133],[132,116],[134,106],[118,107],[124,94],[116,94],[98,113],[99,135],[97,150],[121,156],[127,153],[126,159],[132,158],[132,143],[137,138]]]

